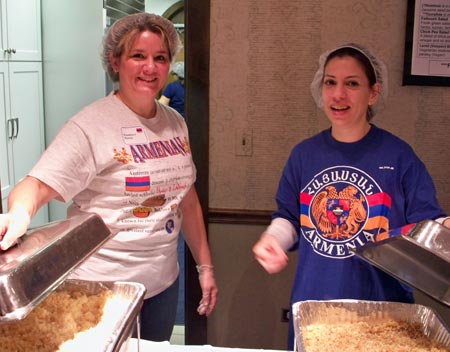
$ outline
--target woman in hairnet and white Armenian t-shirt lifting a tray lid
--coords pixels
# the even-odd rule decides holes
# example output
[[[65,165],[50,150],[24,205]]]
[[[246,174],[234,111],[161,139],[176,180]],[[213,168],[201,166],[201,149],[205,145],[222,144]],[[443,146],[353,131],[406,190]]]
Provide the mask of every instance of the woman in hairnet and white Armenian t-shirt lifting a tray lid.
[[[156,100],[181,43],[170,21],[141,13],[115,22],[103,44],[104,67],[119,88],[67,121],[10,193],[0,248],[12,246],[52,199],[73,201],[68,217],[98,214],[115,236],[72,277],[143,283],[141,337],[169,340],[181,230],[198,264],[200,314],[211,314],[218,292],[187,126]]]

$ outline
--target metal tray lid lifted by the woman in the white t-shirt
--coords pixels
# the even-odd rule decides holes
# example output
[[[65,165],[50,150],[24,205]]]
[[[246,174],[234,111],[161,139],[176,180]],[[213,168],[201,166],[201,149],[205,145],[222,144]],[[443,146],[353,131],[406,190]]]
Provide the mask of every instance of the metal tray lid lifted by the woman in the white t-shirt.
[[[111,233],[95,214],[31,229],[0,253],[0,323],[23,319]]]

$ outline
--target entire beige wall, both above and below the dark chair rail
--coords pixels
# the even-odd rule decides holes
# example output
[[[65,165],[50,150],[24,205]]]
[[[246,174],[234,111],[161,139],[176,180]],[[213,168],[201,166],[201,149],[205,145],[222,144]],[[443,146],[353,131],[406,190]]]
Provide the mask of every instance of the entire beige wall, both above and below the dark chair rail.
[[[389,69],[387,104],[374,123],[409,142],[450,212],[450,88],[402,86],[406,0],[211,0],[210,208],[268,210],[291,148],[328,126],[309,93],[319,55],[354,41]],[[250,156],[236,137],[252,132]],[[292,263],[269,276],[251,246],[263,226],[211,224],[220,288],[208,343],[285,348]],[[293,258],[292,261],[295,261]]]

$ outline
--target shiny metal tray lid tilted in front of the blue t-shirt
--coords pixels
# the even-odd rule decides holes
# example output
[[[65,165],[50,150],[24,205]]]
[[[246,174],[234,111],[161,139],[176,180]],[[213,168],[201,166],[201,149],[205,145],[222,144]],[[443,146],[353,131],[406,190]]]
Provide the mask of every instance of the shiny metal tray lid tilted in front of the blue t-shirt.
[[[368,243],[352,251],[391,276],[450,306],[450,229],[433,220],[406,235]]]

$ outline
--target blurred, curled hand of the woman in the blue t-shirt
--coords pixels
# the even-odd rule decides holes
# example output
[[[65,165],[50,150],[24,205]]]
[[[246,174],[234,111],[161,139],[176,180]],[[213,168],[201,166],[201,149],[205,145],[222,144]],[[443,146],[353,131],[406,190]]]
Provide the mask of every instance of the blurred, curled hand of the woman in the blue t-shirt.
[[[269,234],[263,234],[253,246],[256,260],[269,273],[275,274],[283,270],[288,264],[288,256],[278,243],[278,240]]]

